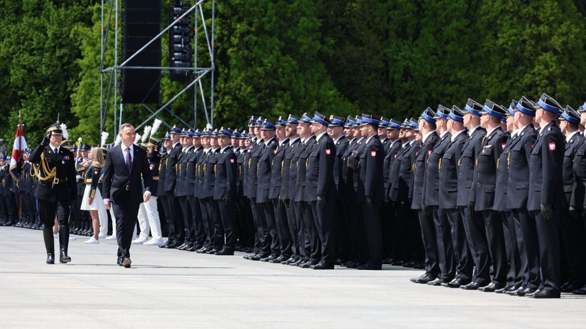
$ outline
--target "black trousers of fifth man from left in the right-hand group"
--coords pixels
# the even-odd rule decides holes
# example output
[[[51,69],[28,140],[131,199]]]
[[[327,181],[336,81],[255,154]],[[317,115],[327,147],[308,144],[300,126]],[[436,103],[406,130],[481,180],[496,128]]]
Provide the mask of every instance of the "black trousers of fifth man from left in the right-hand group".
[[[483,210],[482,218],[486,228],[486,241],[492,259],[492,282],[505,285],[507,282],[507,254],[505,250],[505,235],[503,234],[503,220],[498,211]]]

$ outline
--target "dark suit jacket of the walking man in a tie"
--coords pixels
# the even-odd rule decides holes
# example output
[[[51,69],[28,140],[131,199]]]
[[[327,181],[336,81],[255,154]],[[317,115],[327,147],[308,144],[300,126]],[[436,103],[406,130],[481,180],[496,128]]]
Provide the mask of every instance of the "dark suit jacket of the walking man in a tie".
[[[130,204],[138,205],[142,202],[142,180],[144,180],[145,191],[151,190],[152,175],[148,165],[147,151],[133,145],[132,152],[134,159],[130,173],[124,162],[120,145],[114,146],[108,152],[104,167],[103,198],[109,198],[115,203],[130,201]],[[128,192],[128,199],[122,198],[125,192]]]

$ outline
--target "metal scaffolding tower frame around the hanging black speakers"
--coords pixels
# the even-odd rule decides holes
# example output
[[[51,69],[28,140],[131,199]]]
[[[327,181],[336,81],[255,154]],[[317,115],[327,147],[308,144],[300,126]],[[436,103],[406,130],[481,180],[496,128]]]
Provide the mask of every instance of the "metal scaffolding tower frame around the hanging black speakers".
[[[190,127],[195,128],[197,125],[197,98],[201,98],[203,112],[205,114],[206,123],[209,123],[213,126],[213,116],[214,116],[214,20],[216,18],[216,2],[215,0],[184,0],[183,2],[193,2],[193,5],[190,6],[189,9],[183,13],[178,19],[171,22],[167,25],[161,32],[153,37],[149,42],[147,42],[141,49],[137,50],[134,54],[128,57],[127,60],[122,61],[119,63],[120,60],[120,20],[119,16],[121,15],[121,8],[119,1],[121,0],[101,0],[101,57],[100,57],[100,131],[105,131],[107,128],[104,127],[105,119],[108,114],[109,109],[114,109],[114,136],[118,134],[118,126],[122,124],[122,114],[124,111],[124,106],[120,102],[119,95],[120,95],[120,73],[122,68],[125,70],[161,70],[163,74],[168,74],[170,70],[187,70],[193,71],[193,78],[189,81],[189,84],[186,85],[185,88],[178,91],[175,96],[173,96],[170,100],[166,101],[163,104],[159,104],[159,108],[153,110],[149,108],[145,104],[141,104],[142,107],[147,109],[151,115],[146,118],[142,123],[138,126],[135,126],[135,129],[141,128],[148,122],[150,122],[154,118],[160,118],[159,113],[162,111],[166,111],[173,116],[182,124]],[[203,3],[212,2],[211,6],[211,13],[209,9],[203,8]],[[113,20],[114,15],[114,20]],[[193,22],[194,22],[194,29],[193,29],[193,66],[191,67],[169,67],[169,66],[157,66],[157,67],[141,67],[141,66],[128,66],[128,62],[132,60],[137,54],[141,53],[144,49],[146,49],[149,44],[155,42],[156,39],[162,37],[169,29],[173,28],[180,19],[185,18],[188,15],[193,15]],[[206,15],[211,15],[211,20],[206,22]],[[197,52],[198,46],[198,35],[201,33],[200,31],[203,30],[203,35],[205,37],[205,43],[207,44],[207,52]],[[107,56],[106,52],[107,44],[108,44],[108,37],[111,37],[112,32],[114,33],[114,63],[106,63]],[[161,51],[169,53],[168,49],[165,49],[163,46]],[[198,56],[209,56],[209,67],[198,67]],[[209,94],[205,93],[204,85],[202,84],[202,79],[207,75],[210,77],[210,90]],[[180,118],[179,115],[175,114],[171,109],[169,109],[169,105],[172,104],[173,101],[177,100],[181,95],[185,94],[185,92],[193,91],[193,121],[190,118],[186,118],[185,120]],[[165,122],[163,118],[163,124],[171,128],[172,124]]]

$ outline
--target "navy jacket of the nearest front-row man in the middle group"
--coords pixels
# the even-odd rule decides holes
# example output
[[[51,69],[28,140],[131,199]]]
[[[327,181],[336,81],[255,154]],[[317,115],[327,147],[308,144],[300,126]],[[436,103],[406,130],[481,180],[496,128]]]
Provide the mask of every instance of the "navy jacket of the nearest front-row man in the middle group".
[[[305,201],[318,200],[318,196],[335,197],[336,184],[333,181],[333,162],[336,146],[328,133],[324,133],[314,144],[307,159],[305,172]]]

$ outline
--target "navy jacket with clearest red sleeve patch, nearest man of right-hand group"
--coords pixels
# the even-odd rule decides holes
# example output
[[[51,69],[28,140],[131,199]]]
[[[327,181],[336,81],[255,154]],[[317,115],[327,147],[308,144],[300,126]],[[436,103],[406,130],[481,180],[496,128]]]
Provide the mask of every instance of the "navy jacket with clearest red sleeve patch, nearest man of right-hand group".
[[[531,152],[527,210],[540,210],[541,204],[550,204],[553,209],[566,205],[561,172],[564,150],[564,135],[556,122],[550,122],[541,129]]]

